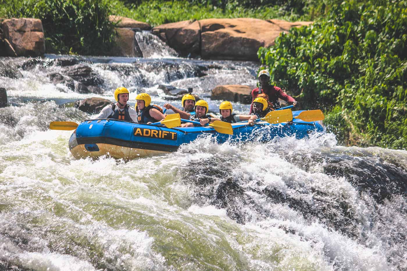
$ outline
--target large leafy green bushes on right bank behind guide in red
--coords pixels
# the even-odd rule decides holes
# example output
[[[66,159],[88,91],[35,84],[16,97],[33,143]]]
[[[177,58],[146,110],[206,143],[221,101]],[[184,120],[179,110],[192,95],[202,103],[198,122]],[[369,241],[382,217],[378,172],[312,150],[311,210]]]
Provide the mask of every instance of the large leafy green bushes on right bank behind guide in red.
[[[407,149],[407,1],[338,2],[258,55],[342,144]]]

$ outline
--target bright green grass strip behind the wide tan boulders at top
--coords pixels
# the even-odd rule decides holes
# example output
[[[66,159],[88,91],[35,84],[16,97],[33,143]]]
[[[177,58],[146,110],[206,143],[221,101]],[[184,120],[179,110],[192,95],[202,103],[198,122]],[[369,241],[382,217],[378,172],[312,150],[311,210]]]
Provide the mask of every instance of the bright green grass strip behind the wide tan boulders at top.
[[[134,20],[147,22],[151,26],[179,22],[184,20],[201,20],[208,18],[258,18],[258,19],[281,19],[287,21],[306,20],[311,18],[314,6],[306,5],[306,1],[298,1],[298,5],[292,6],[291,1],[263,1],[269,4],[261,4],[261,1],[116,1],[114,12],[116,15],[129,17]],[[271,4],[270,4],[271,2]],[[304,13],[300,7],[313,7]],[[312,13],[314,14],[314,13]]]

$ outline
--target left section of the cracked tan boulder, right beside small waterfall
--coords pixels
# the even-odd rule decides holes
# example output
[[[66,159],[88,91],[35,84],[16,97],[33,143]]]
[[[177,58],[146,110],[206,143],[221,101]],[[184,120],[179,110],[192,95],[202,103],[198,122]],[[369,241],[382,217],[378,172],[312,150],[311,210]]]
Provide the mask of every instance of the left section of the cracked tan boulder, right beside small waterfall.
[[[190,20],[156,26],[152,33],[182,56],[200,55],[200,28],[199,21]]]

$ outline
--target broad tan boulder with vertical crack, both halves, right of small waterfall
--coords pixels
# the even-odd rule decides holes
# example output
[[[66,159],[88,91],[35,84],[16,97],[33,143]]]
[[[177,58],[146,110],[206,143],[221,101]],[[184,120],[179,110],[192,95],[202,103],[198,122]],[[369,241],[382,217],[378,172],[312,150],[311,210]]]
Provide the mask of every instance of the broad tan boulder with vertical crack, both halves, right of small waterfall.
[[[272,46],[280,33],[311,23],[252,18],[204,19],[162,24],[152,32],[184,56],[257,61],[260,46]]]

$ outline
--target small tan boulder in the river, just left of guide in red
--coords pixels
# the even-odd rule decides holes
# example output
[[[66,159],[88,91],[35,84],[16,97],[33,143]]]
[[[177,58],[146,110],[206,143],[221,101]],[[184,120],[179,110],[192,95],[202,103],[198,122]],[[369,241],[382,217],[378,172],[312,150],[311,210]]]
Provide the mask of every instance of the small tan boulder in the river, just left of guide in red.
[[[224,100],[250,104],[252,102],[252,89],[248,85],[218,85],[212,90],[212,100]]]

